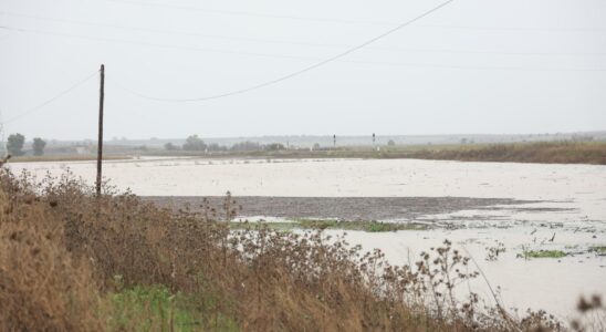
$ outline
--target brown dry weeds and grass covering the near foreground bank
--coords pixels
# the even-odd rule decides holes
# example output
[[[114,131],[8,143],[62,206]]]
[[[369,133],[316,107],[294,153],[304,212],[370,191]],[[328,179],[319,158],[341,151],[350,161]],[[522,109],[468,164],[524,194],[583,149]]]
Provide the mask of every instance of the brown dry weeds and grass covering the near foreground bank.
[[[70,175],[1,170],[0,330],[560,329],[479,308],[473,293],[458,301],[456,284],[477,273],[448,241],[396,267],[321,230],[230,230],[217,221],[233,216],[230,197],[220,214],[200,204],[175,215],[128,193],[96,199]]]

